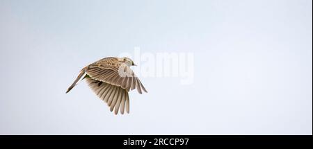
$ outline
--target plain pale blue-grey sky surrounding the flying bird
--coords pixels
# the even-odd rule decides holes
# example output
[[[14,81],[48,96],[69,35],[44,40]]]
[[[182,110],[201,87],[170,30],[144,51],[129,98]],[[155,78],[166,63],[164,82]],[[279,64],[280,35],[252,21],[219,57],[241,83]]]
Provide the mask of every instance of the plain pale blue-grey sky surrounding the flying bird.
[[[141,77],[115,116],[79,70],[193,52],[194,82]],[[0,0],[0,134],[312,134],[312,1]]]

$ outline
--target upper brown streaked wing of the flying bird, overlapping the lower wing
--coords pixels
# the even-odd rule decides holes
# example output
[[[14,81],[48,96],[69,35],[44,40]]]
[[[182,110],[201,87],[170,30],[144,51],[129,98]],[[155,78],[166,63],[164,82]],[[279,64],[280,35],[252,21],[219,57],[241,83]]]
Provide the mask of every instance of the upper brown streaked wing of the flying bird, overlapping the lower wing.
[[[147,92],[139,78],[126,64],[118,61],[118,58],[104,58],[86,67],[86,73],[90,78],[122,87],[127,91],[137,88]],[[112,97],[114,98],[114,97]]]

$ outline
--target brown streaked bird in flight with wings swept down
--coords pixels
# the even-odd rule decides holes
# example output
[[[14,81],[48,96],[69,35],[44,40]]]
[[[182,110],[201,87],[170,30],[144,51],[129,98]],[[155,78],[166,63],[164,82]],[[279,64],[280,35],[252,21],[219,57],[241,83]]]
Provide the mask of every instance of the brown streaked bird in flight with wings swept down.
[[[89,87],[97,94],[97,96],[104,100],[111,112],[124,114],[129,113],[129,96],[128,92],[137,89],[139,94],[142,91],[147,93],[145,87],[130,69],[131,66],[136,66],[130,58],[103,58],[93,64],[89,64],[79,72],[79,76],[74,80],[72,85],[67,89],[66,93],[70,91],[79,80],[86,79]]]

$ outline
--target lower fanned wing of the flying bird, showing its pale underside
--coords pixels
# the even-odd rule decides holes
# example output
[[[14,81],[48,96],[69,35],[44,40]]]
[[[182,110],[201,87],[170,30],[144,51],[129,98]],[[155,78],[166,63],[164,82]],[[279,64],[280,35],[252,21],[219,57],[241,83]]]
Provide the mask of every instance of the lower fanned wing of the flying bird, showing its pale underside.
[[[126,108],[126,112],[129,113],[129,98],[126,89],[93,78],[86,78],[86,81],[95,94],[109,105],[111,112],[114,109],[114,113],[118,114],[120,109],[120,113],[124,114]]]

